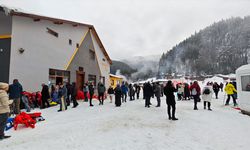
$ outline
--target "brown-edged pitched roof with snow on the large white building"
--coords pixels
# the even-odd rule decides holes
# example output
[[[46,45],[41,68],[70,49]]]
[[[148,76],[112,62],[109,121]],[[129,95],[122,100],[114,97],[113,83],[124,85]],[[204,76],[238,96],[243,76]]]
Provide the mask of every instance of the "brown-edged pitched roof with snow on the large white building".
[[[99,47],[101,48],[103,54],[105,55],[105,57],[107,58],[108,62],[110,64],[112,64],[112,60],[110,59],[106,49],[104,48],[101,39],[99,38],[95,27],[91,24],[85,24],[85,23],[80,23],[80,22],[75,22],[75,21],[70,21],[70,20],[64,20],[64,19],[58,19],[58,18],[52,18],[52,17],[47,17],[47,16],[42,16],[42,15],[36,15],[36,14],[32,14],[32,13],[27,13],[27,12],[23,12],[22,10],[19,9],[13,9],[13,8],[9,8],[6,6],[1,6],[0,8],[3,8],[3,10],[5,11],[5,13],[9,13],[9,15],[11,16],[21,16],[21,17],[28,17],[28,18],[32,18],[34,20],[48,20],[48,21],[52,21],[56,24],[71,24],[72,26],[87,26],[89,29],[91,29],[93,35],[95,36],[97,43],[99,45]]]

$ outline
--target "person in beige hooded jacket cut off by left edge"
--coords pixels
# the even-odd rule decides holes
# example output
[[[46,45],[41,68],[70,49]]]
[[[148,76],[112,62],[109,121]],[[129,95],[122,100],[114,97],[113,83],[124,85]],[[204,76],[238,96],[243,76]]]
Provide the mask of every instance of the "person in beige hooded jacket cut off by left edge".
[[[9,100],[7,94],[8,89],[9,85],[7,83],[0,82],[0,140],[10,137],[4,134],[4,129],[10,113],[9,105],[13,102],[13,100]]]

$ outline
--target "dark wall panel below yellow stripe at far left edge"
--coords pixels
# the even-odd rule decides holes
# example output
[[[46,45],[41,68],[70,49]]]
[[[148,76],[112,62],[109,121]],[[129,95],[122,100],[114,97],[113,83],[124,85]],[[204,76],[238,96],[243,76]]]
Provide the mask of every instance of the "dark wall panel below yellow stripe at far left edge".
[[[0,82],[9,83],[11,38],[0,36]]]

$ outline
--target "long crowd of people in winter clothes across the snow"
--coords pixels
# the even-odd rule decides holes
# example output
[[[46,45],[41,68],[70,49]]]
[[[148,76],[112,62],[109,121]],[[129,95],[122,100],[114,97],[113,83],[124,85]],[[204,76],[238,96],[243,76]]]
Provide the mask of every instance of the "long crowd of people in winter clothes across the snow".
[[[92,99],[95,93],[97,93],[97,98],[99,100],[99,105],[104,105],[104,100],[109,97],[110,103],[113,103],[116,107],[120,107],[122,103],[127,102],[127,97],[130,101],[140,98],[140,91],[143,90],[143,99],[145,99],[145,107],[150,108],[152,105],[150,99],[156,97],[157,105],[155,107],[161,107],[161,97],[165,95],[167,104],[167,113],[169,120],[178,120],[175,116],[176,111],[176,101],[175,93],[178,100],[190,100],[194,101],[194,110],[198,110],[198,102],[203,100],[204,109],[211,109],[212,96],[214,95],[218,99],[219,91],[223,91],[223,83],[208,82],[203,89],[199,86],[197,81],[193,83],[178,83],[173,84],[169,80],[165,85],[157,83],[146,82],[143,85],[139,84],[128,84],[127,82],[122,82],[118,84],[115,88],[109,86],[106,87],[103,83],[98,83],[97,87],[94,86],[93,82],[86,82],[83,85],[84,101],[89,102],[89,106],[93,107]],[[96,90],[96,92],[95,92]],[[31,97],[27,96],[23,91],[22,85],[17,79],[13,80],[13,84],[8,85],[6,83],[0,82],[0,140],[8,138],[10,136],[4,135],[4,127],[6,125],[7,118],[10,113],[15,115],[20,114],[20,103],[24,103],[27,112],[30,111],[31,107],[40,107],[41,109],[48,108],[51,106],[52,102],[60,104],[58,112],[65,111],[73,103],[72,108],[76,108],[79,104],[77,102],[79,88],[76,83],[72,84],[59,83],[58,85],[52,85],[50,88],[46,84],[42,84],[41,94],[36,92],[35,99],[36,102],[34,106],[30,106],[29,99]],[[225,105],[229,105],[230,98],[233,99],[234,106],[237,106],[237,89],[236,82],[229,82],[226,84],[224,91],[227,94],[227,100]],[[107,95],[106,95],[107,93]],[[40,103],[37,99],[40,97]],[[114,98],[113,98],[114,97]]]

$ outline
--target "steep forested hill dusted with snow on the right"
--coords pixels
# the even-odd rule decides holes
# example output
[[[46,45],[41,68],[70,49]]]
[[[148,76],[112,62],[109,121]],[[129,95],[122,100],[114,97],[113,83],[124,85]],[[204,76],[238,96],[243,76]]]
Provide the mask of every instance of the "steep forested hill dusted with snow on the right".
[[[214,23],[161,56],[159,72],[229,74],[250,63],[250,16]]]

